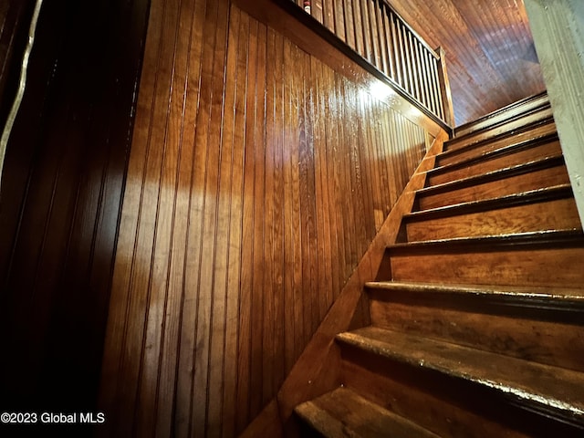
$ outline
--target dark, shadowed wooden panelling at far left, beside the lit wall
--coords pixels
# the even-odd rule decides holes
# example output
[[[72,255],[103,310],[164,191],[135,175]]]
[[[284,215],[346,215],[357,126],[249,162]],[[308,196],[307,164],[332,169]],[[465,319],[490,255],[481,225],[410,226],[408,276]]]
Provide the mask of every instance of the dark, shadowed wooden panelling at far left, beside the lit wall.
[[[34,3],[0,6],[0,66],[16,77],[22,52],[7,48],[24,49]],[[0,193],[3,412],[95,409],[148,6],[41,9]],[[10,108],[16,83],[3,84]]]

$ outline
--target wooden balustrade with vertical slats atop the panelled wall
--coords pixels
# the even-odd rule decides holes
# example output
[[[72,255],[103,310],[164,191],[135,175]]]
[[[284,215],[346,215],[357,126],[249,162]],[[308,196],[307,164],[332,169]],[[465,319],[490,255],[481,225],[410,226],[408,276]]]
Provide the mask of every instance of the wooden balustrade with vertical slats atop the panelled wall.
[[[454,126],[444,53],[434,50],[386,0],[291,0],[424,109]]]

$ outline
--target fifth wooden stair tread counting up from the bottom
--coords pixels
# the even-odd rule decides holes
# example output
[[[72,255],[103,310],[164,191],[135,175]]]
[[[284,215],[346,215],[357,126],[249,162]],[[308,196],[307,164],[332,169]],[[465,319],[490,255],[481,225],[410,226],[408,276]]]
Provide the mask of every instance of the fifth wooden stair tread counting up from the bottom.
[[[508,194],[496,198],[472,201],[467,203],[455,203],[443,207],[431,208],[404,214],[405,221],[422,221],[429,218],[446,217],[455,214],[466,214],[484,210],[495,210],[524,203],[537,203],[548,200],[568,198],[573,196],[572,188],[569,184],[561,184],[544,189],[530,190],[522,193]]]

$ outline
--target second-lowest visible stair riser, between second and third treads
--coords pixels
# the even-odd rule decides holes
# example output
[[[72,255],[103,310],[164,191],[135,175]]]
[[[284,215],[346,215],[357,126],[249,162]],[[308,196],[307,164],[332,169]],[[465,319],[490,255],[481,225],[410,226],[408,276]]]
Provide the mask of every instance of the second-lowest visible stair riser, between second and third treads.
[[[370,290],[369,297],[373,326],[584,371],[584,327],[558,322],[567,312],[489,308],[478,300],[442,306],[446,303],[434,296],[390,300],[380,290]]]

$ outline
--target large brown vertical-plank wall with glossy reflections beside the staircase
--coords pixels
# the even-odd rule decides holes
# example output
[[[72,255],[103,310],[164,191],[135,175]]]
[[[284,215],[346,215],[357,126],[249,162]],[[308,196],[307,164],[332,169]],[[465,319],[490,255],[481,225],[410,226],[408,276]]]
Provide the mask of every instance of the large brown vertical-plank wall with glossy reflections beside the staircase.
[[[103,436],[234,436],[274,398],[432,140],[368,78],[227,0],[152,1]]]

